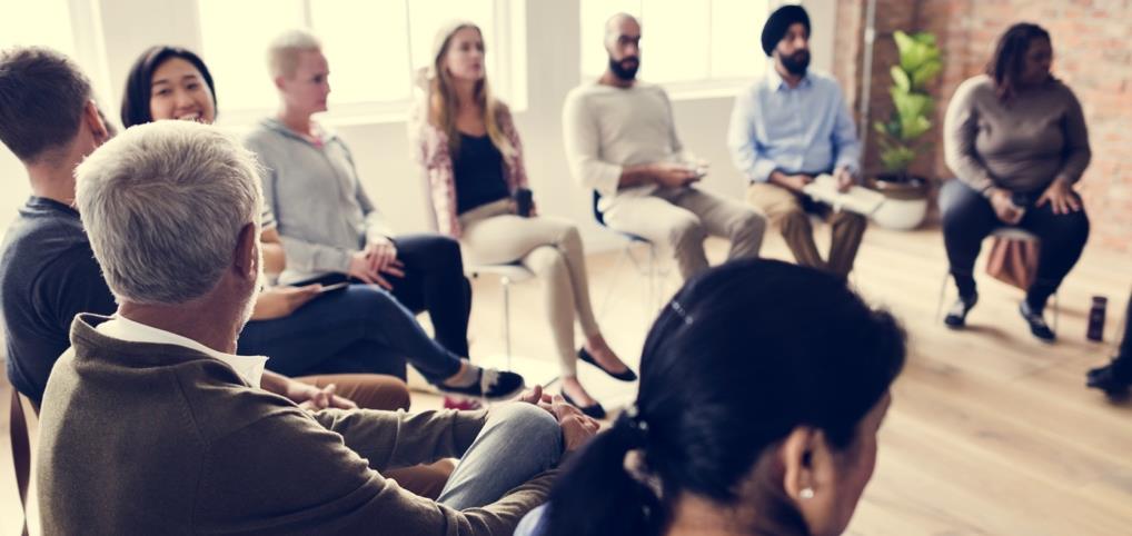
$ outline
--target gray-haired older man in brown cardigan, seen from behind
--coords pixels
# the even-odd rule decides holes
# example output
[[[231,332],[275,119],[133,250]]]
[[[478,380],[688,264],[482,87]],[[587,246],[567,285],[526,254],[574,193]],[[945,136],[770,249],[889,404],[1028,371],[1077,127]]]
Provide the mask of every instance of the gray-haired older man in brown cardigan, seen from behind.
[[[76,317],[48,382],[44,534],[509,535],[564,446],[595,429],[538,390],[525,401],[549,411],[409,415],[308,412],[257,389],[266,358],[232,352],[259,286],[263,201],[254,158],[211,127],[131,128],[77,186],[119,309]],[[437,502],[378,473],[453,456]]]

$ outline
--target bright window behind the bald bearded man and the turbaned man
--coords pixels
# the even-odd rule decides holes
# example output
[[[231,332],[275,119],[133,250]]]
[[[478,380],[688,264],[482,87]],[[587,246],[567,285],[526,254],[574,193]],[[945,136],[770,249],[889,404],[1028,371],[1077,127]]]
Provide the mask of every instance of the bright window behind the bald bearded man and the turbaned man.
[[[606,20],[624,11],[641,20],[640,77],[666,84],[751,79],[766,65],[758,35],[767,0],[581,0],[582,76],[608,62]]]

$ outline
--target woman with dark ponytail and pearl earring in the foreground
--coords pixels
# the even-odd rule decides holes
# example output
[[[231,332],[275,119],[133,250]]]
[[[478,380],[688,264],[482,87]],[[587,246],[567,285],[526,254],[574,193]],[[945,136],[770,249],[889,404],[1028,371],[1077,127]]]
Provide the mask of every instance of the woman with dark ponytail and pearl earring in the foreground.
[[[833,275],[710,270],[653,324],[635,405],[515,534],[841,534],[903,363],[898,322]]]

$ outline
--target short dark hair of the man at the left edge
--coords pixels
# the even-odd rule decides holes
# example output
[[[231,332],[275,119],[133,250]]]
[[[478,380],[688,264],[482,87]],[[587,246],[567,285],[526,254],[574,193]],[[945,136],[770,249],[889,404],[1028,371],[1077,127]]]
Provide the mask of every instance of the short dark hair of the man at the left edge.
[[[0,142],[20,161],[68,146],[91,99],[91,82],[66,56],[41,46],[0,52]]]

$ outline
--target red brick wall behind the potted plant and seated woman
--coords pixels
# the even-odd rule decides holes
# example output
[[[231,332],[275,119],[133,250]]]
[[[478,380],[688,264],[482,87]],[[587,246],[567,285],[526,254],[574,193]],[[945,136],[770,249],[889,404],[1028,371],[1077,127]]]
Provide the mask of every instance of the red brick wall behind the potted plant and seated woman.
[[[859,109],[865,0],[840,2],[834,75]],[[915,170],[951,177],[943,163],[940,128],[947,101],[964,79],[980,73],[998,35],[1017,22],[1036,22],[1054,43],[1054,73],[1084,108],[1092,163],[1080,185],[1092,220],[1090,247],[1132,252],[1132,0],[877,0],[871,120],[887,117],[889,66],[895,61],[892,32],[928,31],[936,35],[944,70],[933,93],[938,97],[936,125],[928,136],[931,154]],[[850,90],[851,87],[851,90]],[[875,137],[871,138],[875,142]],[[866,168],[877,168],[869,143]]]

